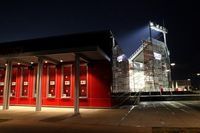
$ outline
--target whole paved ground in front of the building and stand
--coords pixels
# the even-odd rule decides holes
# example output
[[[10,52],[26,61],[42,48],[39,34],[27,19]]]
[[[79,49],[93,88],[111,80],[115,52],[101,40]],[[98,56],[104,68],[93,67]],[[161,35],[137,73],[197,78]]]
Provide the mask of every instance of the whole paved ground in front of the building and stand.
[[[0,107],[2,108],[2,107]],[[11,106],[0,111],[0,133],[165,133],[200,132],[200,101],[142,102],[137,106],[120,109]]]

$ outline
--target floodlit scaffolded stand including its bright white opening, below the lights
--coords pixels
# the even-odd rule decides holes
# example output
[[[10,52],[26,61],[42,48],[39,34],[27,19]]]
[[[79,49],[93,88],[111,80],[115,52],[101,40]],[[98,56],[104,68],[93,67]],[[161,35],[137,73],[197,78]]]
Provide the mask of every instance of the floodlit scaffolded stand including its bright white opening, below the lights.
[[[146,40],[137,51],[129,59],[132,64],[129,69],[130,89],[134,92],[168,91],[170,63],[166,45],[155,39]]]

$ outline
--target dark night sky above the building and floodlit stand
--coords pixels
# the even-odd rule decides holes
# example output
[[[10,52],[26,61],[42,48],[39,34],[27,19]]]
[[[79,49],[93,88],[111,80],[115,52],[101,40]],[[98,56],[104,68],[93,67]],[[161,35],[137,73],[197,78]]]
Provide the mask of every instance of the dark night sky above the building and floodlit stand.
[[[111,29],[127,55],[150,20],[168,29],[175,78],[199,72],[200,9],[194,0],[13,0],[0,2],[0,42]],[[148,35],[148,32],[145,33]],[[129,39],[131,41],[126,41]],[[140,40],[140,37],[138,37]]]

